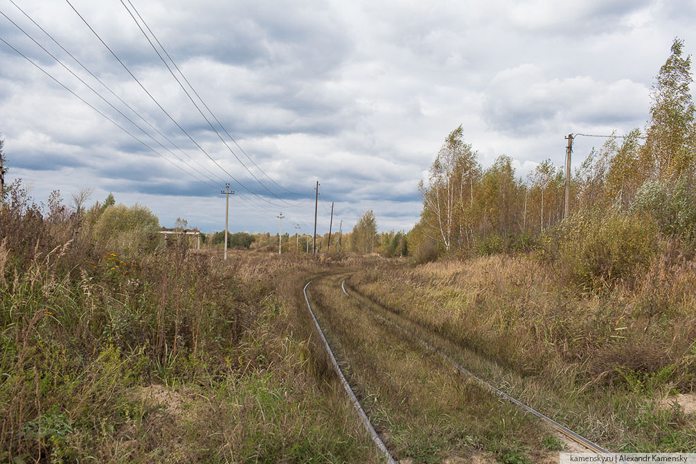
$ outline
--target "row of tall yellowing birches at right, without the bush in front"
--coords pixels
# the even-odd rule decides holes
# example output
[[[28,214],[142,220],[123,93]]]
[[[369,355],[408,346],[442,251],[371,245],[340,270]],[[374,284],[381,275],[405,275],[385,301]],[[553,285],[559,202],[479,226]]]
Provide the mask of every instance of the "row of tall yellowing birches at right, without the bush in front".
[[[608,138],[571,175],[571,216],[581,211],[643,214],[665,234],[696,239],[695,106],[691,58],[675,39],[656,76],[645,131]],[[409,232],[418,253],[525,248],[564,219],[565,174],[550,159],[526,178],[500,156],[483,168],[464,129],[454,129],[420,182],[420,221]]]

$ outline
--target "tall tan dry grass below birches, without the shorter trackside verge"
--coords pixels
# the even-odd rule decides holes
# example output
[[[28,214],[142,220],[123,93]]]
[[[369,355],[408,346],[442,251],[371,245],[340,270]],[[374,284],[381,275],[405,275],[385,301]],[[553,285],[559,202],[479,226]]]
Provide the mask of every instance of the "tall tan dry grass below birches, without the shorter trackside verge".
[[[603,381],[621,369],[696,385],[696,264],[679,245],[637,284],[577,294],[554,270],[525,256],[434,262],[401,271],[376,267],[351,278],[377,301],[521,373],[577,362]],[[607,372],[608,371],[608,372]]]

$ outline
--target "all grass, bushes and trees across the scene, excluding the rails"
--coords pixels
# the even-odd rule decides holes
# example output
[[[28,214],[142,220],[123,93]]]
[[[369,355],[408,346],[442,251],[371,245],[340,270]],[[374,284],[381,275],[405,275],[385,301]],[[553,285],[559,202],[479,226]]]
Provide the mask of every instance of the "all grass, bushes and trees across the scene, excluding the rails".
[[[352,285],[571,429],[616,451],[696,451],[694,416],[665,406],[696,387],[691,82],[675,40],[644,138],[590,153],[566,218],[551,161],[528,179],[509,157],[483,169],[458,127],[409,234],[378,233],[367,211],[317,237],[316,261],[307,234],[239,232],[228,246],[243,251],[221,264],[186,240],[162,246],[146,207],[109,195],[85,209],[89,191],[74,211],[57,192],[36,205],[15,182],[0,192],[0,461],[378,461],[297,311],[306,278],[357,262],[350,251],[411,255],[360,262]],[[279,243],[283,255],[258,253]],[[367,410],[400,456],[525,462],[559,448],[326,287],[314,296],[362,397],[384,399]],[[480,420],[491,410],[507,422]]]

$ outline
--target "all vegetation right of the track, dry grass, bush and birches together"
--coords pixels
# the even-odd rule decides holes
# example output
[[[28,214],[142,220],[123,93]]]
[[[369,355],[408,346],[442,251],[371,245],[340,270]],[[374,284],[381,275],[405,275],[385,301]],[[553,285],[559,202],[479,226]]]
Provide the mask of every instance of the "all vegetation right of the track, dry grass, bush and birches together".
[[[690,56],[678,39],[671,51],[645,135],[590,153],[570,179],[568,217],[562,170],[547,160],[520,179],[509,157],[483,169],[458,127],[419,186],[417,266],[352,278],[617,450],[696,443],[694,417],[664,406],[696,387],[696,109]]]

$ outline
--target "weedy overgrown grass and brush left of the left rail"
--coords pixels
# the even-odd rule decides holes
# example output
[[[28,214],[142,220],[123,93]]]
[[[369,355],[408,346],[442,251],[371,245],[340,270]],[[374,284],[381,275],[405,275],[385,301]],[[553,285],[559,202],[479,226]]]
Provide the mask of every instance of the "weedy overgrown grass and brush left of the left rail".
[[[26,198],[0,214],[0,462],[377,462],[296,329],[319,265],[100,246]]]

